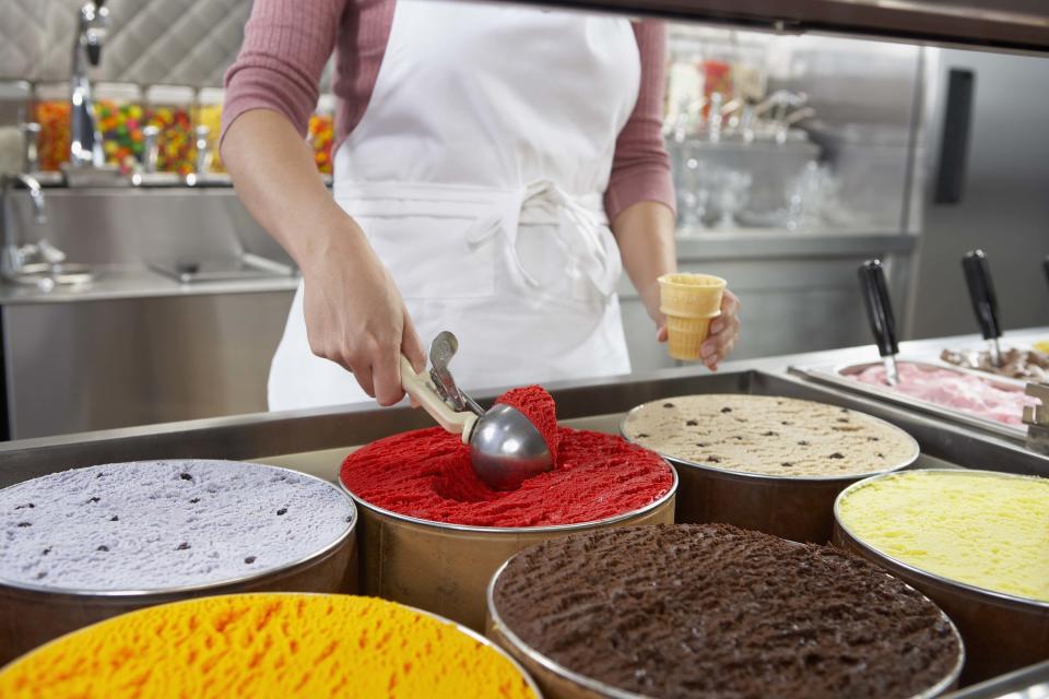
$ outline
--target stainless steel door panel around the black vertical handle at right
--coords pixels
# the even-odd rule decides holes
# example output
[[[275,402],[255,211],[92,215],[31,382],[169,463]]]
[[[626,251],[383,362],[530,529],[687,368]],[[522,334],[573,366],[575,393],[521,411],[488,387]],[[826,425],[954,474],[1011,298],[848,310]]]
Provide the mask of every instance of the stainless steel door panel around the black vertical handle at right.
[[[977,329],[962,274],[962,256],[988,254],[1006,329],[1049,322],[1049,62],[1044,58],[940,51],[938,97],[928,116],[930,144],[921,257],[915,270],[907,336]],[[975,73],[965,186],[957,203],[933,201],[951,69]],[[1009,335],[1006,333],[1006,340]]]

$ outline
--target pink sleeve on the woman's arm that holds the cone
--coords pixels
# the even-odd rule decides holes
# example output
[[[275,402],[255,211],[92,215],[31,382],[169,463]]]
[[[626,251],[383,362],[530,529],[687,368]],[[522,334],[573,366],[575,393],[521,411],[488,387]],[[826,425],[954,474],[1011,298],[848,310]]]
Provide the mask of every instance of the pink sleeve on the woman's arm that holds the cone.
[[[604,194],[609,221],[632,204],[655,201],[675,210],[670,156],[663,145],[663,61],[667,27],[662,22],[634,24],[641,55],[641,86],[637,105],[615,142],[612,175]]]

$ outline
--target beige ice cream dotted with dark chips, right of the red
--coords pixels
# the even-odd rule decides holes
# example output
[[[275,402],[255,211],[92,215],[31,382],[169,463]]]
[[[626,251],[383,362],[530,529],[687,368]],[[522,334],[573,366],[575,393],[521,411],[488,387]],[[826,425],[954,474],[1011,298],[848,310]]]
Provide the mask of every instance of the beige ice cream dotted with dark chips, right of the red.
[[[863,413],[767,395],[681,395],[646,403],[627,439],[671,459],[775,476],[856,476],[917,455],[905,431]]]

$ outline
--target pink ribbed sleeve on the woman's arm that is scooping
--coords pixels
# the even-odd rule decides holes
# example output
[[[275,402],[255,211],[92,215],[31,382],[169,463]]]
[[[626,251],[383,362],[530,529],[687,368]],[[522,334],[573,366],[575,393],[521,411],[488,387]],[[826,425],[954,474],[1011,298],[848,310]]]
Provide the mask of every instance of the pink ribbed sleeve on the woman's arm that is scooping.
[[[271,109],[306,134],[320,74],[346,0],[255,0],[237,60],[226,71],[222,135],[245,111]]]

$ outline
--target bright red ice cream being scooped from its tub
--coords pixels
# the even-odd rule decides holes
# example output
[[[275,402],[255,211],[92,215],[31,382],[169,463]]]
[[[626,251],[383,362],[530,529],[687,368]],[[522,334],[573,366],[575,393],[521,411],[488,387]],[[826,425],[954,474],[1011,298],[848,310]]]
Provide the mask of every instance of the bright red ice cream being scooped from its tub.
[[[373,442],[342,464],[342,483],[385,510],[474,526],[552,526],[608,519],[645,507],[673,484],[657,454],[620,437],[557,427],[543,389],[515,389],[498,399],[531,419],[556,466],[516,490],[493,490],[474,474],[470,448],[440,428]]]

